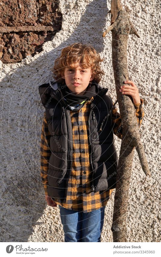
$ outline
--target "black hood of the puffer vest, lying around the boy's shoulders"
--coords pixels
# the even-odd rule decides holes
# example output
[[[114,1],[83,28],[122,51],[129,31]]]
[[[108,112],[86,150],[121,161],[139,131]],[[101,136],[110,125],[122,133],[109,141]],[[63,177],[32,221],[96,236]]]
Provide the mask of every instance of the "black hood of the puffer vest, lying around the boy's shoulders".
[[[108,91],[108,88],[101,87],[96,81],[94,81],[94,83],[97,84],[99,91],[92,102],[95,102],[95,99],[98,99],[99,96],[101,97],[102,95],[105,95]],[[65,106],[65,101],[61,92],[62,86],[63,85],[61,83],[49,81],[49,83],[42,84],[38,87],[41,102],[44,107],[52,99],[57,100],[61,105]]]

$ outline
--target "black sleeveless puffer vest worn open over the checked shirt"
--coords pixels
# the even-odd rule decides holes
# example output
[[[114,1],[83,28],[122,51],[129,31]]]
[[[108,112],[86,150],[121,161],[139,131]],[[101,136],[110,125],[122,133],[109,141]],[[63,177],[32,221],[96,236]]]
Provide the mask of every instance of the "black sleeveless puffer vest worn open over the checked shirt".
[[[89,110],[91,190],[94,192],[115,188],[118,169],[118,156],[111,127],[112,114],[104,119],[113,103],[111,97],[106,95],[108,89],[98,86],[99,92],[91,102]],[[61,198],[65,203],[72,168],[72,122],[60,88],[61,84],[50,81],[39,86],[39,94],[51,134],[47,192],[49,196]]]

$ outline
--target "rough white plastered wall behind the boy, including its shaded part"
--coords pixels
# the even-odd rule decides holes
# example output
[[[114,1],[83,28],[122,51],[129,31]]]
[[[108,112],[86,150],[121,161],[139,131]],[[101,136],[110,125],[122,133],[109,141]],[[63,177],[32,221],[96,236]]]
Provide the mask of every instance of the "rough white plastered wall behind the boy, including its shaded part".
[[[3,64],[1,71],[2,146],[1,146],[1,238],[3,242],[63,242],[59,208],[46,205],[40,178],[40,131],[44,108],[38,86],[52,79],[51,68],[62,48],[74,42],[92,44],[105,57],[101,81],[108,94],[116,99],[112,61],[111,32],[102,38],[110,25],[111,1],[63,1],[62,30],[43,51],[21,63]],[[145,117],[140,127],[152,177],[145,178],[135,153],[127,212],[127,242],[158,242],[159,202],[159,4],[158,1],[122,0],[129,10],[140,38],[129,36],[129,77],[144,99]],[[120,140],[115,144],[120,148]],[[114,193],[105,209],[102,242],[112,242]]]

